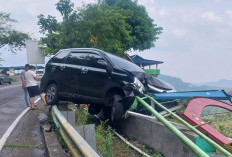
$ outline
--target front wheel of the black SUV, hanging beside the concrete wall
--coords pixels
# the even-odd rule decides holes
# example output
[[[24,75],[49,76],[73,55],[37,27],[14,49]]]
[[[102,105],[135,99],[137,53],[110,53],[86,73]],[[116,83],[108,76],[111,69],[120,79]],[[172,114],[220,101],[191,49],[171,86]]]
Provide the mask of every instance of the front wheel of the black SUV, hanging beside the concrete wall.
[[[122,99],[123,97],[117,94],[111,96],[110,98],[110,105],[112,106],[111,115],[110,115],[111,122],[118,122],[123,118],[124,106],[122,103],[118,102],[119,100]]]

